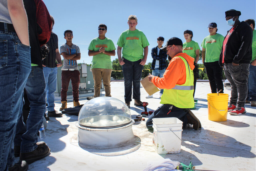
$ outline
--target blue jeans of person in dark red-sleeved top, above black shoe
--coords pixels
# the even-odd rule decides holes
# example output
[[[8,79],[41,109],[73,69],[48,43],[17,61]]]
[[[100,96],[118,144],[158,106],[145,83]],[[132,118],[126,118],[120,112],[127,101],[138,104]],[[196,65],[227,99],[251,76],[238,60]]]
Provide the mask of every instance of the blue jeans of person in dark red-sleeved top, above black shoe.
[[[18,135],[24,129],[26,129],[26,132],[22,134],[21,137],[15,137],[15,146],[20,144],[21,153],[32,152],[37,148],[37,132],[42,125],[42,119],[46,107],[45,78],[43,69],[41,67],[31,67],[31,72],[28,76],[25,90],[30,102],[30,111],[26,125],[24,125],[22,117],[20,117],[17,124],[16,135]]]

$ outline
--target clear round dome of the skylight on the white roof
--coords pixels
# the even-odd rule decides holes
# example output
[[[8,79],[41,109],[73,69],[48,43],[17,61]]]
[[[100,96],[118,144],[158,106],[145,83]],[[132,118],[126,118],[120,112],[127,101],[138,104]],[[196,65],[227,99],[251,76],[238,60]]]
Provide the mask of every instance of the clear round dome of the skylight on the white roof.
[[[83,127],[113,128],[131,123],[129,108],[113,97],[96,97],[83,105],[78,123]]]

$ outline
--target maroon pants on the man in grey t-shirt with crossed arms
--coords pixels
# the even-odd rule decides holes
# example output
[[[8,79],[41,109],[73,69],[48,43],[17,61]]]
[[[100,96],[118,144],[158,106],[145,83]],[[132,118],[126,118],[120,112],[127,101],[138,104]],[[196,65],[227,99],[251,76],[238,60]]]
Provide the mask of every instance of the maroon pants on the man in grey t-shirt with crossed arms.
[[[67,100],[68,85],[71,79],[73,100],[75,102],[79,101],[79,83],[80,83],[80,72],[78,70],[74,71],[62,71],[61,72],[61,102]]]

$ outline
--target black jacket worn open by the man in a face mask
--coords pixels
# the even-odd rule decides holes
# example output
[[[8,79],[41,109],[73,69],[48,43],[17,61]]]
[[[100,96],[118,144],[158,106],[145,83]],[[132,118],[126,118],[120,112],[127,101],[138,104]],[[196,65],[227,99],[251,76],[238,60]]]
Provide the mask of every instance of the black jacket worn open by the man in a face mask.
[[[229,31],[228,31],[229,33]],[[227,33],[227,34],[228,34]],[[229,36],[225,48],[225,63],[247,63],[250,64],[252,60],[252,28],[248,23],[240,22]],[[227,36],[227,35],[226,35]],[[226,38],[225,36],[225,38]],[[224,38],[224,40],[225,40]],[[222,66],[222,51],[220,52],[219,65]]]

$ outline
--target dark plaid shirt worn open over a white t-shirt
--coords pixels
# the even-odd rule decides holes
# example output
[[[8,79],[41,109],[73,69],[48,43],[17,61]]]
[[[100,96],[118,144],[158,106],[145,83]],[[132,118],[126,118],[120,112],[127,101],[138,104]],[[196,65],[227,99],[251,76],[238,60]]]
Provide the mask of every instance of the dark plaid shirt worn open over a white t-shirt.
[[[153,58],[152,64],[151,64],[151,69],[155,70],[155,64],[156,60],[159,60],[159,70],[166,69],[167,65],[165,60],[167,59],[167,54],[165,51],[160,49],[159,55],[157,55],[157,46],[153,47],[151,50],[151,56]]]

